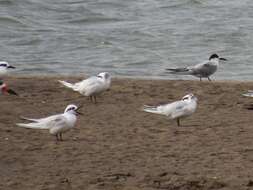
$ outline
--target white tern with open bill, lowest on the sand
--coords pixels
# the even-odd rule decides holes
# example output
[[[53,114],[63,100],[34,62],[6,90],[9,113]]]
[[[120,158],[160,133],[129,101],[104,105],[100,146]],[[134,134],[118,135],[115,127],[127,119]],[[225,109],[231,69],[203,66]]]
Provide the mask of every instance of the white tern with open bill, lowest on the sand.
[[[49,133],[56,136],[56,140],[62,141],[62,133],[70,130],[75,126],[78,112],[76,105],[70,104],[66,107],[64,113],[52,115],[41,119],[30,119],[22,117],[24,120],[32,121],[32,123],[17,123],[19,127],[31,129],[49,129]]]

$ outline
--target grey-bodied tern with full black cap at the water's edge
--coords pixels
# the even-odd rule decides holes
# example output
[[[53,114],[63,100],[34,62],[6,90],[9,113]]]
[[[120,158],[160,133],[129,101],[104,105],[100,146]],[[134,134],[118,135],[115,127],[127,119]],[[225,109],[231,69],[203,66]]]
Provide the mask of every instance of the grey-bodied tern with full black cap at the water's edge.
[[[211,81],[210,76],[217,71],[220,60],[227,61],[227,59],[219,57],[217,54],[212,54],[209,57],[209,60],[203,63],[199,63],[191,67],[166,70],[170,71],[171,74],[193,75],[198,77],[200,81],[202,78],[207,78],[209,81]]]

